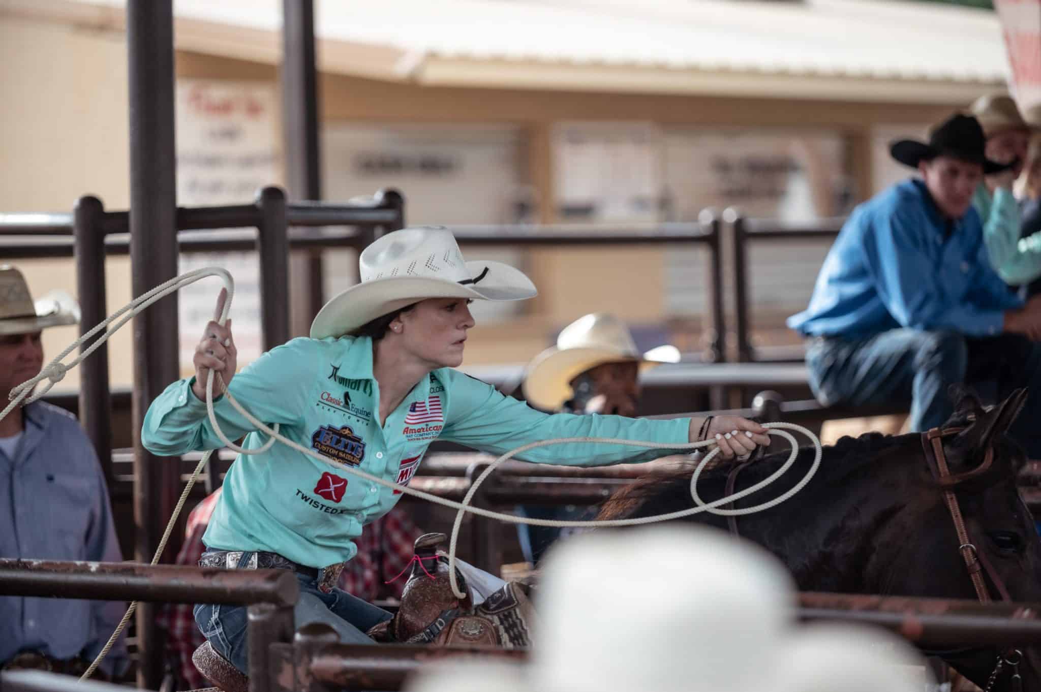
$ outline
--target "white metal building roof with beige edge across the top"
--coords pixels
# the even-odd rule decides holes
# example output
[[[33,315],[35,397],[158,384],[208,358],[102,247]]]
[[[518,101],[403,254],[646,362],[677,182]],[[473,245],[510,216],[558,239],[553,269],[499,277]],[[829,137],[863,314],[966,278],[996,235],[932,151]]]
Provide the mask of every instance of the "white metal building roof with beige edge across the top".
[[[125,0],[0,0],[120,29]],[[900,0],[316,0],[320,68],[430,86],[946,103],[1002,88],[995,12]],[[176,43],[277,63],[279,0],[177,0]]]

